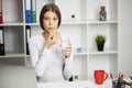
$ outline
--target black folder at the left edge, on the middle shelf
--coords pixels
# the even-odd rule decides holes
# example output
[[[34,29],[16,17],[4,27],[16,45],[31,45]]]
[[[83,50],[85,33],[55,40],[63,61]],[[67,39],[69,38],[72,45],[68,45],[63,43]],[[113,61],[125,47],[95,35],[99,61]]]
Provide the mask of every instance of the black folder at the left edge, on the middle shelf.
[[[0,55],[4,54],[4,32],[3,26],[0,26]]]

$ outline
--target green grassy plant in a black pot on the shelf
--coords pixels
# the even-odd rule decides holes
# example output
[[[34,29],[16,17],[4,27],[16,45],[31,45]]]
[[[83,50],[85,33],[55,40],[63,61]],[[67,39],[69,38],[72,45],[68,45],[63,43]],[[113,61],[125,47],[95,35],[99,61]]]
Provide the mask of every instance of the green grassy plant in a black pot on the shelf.
[[[106,43],[106,35],[98,34],[95,40],[97,43],[98,51],[100,52],[103,51],[105,43]]]

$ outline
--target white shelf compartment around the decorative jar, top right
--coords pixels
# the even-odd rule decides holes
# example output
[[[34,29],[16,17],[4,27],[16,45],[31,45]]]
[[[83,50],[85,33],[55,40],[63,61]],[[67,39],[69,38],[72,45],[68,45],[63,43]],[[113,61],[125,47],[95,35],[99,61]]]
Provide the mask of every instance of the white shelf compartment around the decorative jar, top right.
[[[100,6],[106,6],[107,20],[118,20],[118,0],[89,0],[87,6],[88,21],[99,21]]]

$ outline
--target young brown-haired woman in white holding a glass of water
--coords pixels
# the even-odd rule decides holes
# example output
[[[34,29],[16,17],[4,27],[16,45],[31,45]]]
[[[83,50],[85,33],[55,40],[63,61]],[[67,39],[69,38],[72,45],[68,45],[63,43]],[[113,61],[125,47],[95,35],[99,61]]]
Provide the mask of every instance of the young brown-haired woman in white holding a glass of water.
[[[31,62],[38,81],[65,81],[73,76],[73,46],[62,48],[62,35],[57,29],[62,14],[55,3],[47,3],[40,14],[43,33],[29,41]]]

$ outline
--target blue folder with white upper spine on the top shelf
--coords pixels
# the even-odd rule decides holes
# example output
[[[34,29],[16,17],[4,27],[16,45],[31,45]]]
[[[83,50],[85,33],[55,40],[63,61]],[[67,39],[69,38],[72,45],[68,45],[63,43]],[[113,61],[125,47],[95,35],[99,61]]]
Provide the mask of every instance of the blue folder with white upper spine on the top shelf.
[[[25,0],[25,23],[32,23],[31,0]]]

